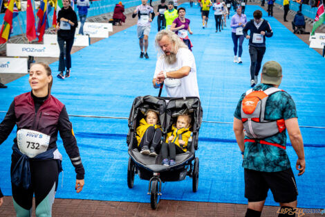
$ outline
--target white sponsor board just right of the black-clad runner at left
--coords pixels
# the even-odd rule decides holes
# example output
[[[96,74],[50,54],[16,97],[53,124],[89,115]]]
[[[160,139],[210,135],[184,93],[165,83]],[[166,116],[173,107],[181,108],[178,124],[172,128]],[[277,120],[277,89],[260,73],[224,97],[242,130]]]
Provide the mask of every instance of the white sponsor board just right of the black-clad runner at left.
[[[79,33],[79,24],[75,33]],[[84,23],[84,35],[89,35],[89,37],[109,37],[109,29],[111,24],[108,23]],[[113,28],[112,28],[113,30]]]

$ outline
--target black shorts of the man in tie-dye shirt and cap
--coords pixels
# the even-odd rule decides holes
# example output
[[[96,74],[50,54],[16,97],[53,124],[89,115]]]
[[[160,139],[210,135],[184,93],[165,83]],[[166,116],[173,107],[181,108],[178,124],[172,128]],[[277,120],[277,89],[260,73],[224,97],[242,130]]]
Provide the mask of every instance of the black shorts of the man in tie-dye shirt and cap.
[[[245,198],[248,202],[266,200],[271,189],[275,202],[293,202],[297,200],[298,189],[293,170],[266,173],[245,168]]]

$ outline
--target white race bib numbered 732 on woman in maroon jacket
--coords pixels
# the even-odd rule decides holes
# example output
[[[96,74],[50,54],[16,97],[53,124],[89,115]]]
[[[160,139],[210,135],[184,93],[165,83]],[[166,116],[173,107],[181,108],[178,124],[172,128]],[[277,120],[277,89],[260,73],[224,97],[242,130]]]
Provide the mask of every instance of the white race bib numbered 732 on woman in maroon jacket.
[[[17,144],[21,153],[32,158],[48,150],[50,136],[35,130],[21,129],[17,132]]]

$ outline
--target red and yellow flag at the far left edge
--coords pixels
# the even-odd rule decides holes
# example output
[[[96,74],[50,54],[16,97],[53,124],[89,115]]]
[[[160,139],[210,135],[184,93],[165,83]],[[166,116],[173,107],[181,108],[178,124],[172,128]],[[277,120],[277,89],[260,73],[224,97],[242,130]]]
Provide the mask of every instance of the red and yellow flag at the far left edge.
[[[3,17],[3,24],[0,31],[0,44],[6,43],[10,37],[10,31],[12,29],[12,14],[14,11],[14,1],[15,0],[9,1],[6,14]]]

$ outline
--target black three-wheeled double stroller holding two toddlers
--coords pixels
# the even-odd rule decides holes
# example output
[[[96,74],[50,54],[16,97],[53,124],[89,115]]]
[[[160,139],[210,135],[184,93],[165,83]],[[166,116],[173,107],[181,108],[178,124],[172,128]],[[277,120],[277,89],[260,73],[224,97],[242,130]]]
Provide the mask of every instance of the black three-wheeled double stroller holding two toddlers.
[[[192,141],[188,141],[187,152],[176,155],[174,166],[163,166],[161,153],[151,157],[142,155],[138,150],[136,140],[136,128],[140,120],[145,117],[147,110],[154,110],[158,114],[160,125],[163,131],[161,142],[166,141],[167,132],[171,131],[171,125],[176,122],[180,114],[192,116],[191,128]],[[202,123],[203,110],[201,101],[197,97],[188,98],[164,98],[155,96],[138,96],[134,99],[129,116],[129,133],[127,144],[129,146],[129,164],[127,168],[127,185],[131,189],[134,177],[139,175],[142,180],[149,180],[151,208],[156,209],[161,193],[162,182],[175,182],[185,180],[188,175],[192,177],[192,190],[198,189],[198,157],[195,151],[198,149],[198,131]]]

